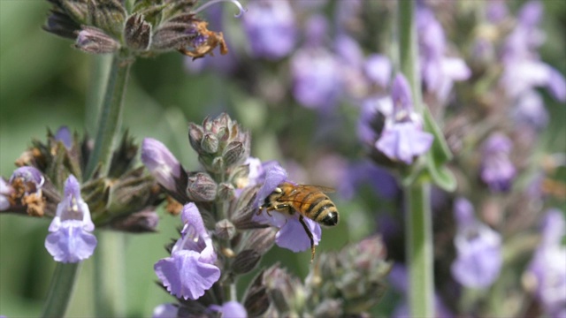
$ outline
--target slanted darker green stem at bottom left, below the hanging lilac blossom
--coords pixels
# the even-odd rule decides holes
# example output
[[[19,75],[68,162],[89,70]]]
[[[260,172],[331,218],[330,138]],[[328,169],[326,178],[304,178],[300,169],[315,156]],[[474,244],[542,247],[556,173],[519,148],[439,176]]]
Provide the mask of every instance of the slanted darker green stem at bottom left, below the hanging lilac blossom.
[[[79,272],[80,262],[57,262],[51,279],[50,292],[43,307],[42,317],[63,317],[73,294],[75,277]]]

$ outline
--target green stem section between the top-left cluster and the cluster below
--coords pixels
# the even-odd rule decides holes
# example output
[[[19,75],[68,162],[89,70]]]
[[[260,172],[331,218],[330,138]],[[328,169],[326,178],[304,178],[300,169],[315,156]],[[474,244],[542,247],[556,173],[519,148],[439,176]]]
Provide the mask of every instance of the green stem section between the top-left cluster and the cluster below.
[[[102,175],[105,175],[109,169],[112,143],[119,131],[122,101],[126,92],[126,81],[131,64],[131,61],[119,57],[119,55],[112,58],[103,107],[98,117],[95,148],[88,159],[86,179],[90,178],[99,166],[102,168],[100,171]]]

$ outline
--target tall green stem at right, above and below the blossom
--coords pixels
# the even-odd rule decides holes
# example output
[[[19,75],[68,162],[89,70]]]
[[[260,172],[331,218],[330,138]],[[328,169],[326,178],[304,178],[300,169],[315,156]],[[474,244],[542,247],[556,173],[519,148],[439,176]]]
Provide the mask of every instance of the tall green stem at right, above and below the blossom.
[[[415,110],[423,114],[418,64],[415,1],[398,2],[399,62],[409,81]],[[432,254],[432,210],[430,185],[418,179],[405,186],[406,253],[409,269],[409,308],[412,317],[434,316],[434,280]]]

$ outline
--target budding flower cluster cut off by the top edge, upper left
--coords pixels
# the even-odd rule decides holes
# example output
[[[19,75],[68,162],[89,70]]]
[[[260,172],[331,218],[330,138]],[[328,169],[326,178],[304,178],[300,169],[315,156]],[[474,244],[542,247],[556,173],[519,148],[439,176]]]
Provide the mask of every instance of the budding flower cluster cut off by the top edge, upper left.
[[[53,7],[44,29],[74,39],[75,47],[87,53],[153,56],[178,50],[198,58],[213,55],[217,47],[221,54],[228,51],[223,34],[210,31],[208,22],[196,17],[211,3],[195,8],[195,0],[134,1],[128,11],[118,0],[50,2]],[[240,3],[232,3],[243,11]]]

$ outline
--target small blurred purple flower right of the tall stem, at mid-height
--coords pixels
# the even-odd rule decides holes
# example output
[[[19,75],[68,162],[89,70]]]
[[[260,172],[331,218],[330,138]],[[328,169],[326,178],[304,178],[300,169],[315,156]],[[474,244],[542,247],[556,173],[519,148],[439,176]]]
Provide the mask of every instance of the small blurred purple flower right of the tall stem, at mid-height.
[[[515,178],[515,166],[509,159],[512,146],[501,133],[493,133],[482,146],[480,177],[494,192],[508,191]]]

